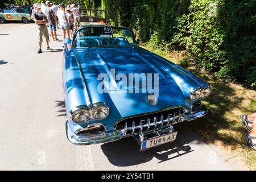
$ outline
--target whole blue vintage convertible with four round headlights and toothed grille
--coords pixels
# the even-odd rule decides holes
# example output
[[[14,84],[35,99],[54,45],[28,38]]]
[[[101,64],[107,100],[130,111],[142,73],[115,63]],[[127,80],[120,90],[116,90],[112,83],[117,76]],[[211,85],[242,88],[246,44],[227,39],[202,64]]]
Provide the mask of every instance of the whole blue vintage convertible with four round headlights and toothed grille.
[[[133,136],[141,150],[176,139],[173,125],[203,117],[210,86],[139,47],[129,28],[88,26],[64,41],[66,132],[74,144]]]

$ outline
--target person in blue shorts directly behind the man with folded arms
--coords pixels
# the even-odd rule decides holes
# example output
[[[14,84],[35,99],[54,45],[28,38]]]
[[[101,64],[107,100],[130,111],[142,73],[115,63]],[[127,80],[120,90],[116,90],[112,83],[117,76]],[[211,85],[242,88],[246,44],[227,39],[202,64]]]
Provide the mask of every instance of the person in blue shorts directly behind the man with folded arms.
[[[46,16],[48,19],[48,25],[50,28],[51,36],[53,41],[59,41],[57,39],[57,34],[56,34],[56,22],[58,22],[53,10],[51,9],[51,4],[49,1],[46,1]]]

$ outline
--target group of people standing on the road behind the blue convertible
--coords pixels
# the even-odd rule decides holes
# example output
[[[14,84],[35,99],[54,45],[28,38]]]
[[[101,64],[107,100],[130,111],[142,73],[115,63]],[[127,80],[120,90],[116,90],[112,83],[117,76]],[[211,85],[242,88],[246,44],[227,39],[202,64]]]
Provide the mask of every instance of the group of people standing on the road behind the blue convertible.
[[[60,41],[57,39],[57,28],[63,31],[63,40],[66,37],[72,39],[74,28],[78,28],[79,7],[75,4],[69,3],[65,7],[63,3],[56,5],[55,2],[42,1],[32,5],[31,11],[31,18],[35,21],[38,32],[38,53],[42,53],[43,36],[46,39],[47,50],[52,50],[49,47],[48,27],[53,41]]]

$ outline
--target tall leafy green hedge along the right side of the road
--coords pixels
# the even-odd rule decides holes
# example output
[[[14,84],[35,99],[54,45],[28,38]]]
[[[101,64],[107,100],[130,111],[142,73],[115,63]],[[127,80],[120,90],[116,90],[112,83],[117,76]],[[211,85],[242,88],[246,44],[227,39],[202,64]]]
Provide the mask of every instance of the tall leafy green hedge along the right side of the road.
[[[217,76],[256,88],[256,0],[102,0],[115,26],[151,47],[185,51]]]

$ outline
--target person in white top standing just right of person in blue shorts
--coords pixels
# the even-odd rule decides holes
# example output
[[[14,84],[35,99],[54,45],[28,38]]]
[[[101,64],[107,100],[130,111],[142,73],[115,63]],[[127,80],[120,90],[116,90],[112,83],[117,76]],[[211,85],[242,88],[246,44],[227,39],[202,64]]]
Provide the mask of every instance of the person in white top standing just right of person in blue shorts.
[[[57,11],[57,15],[58,15],[59,22],[60,22],[60,28],[63,31],[63,41],[64,41],[67,34],[68,34],[68,38],[70,38],[69,23],[68,23],[67,14],[65,13],[64,4],[59,5],[59,11]]]

